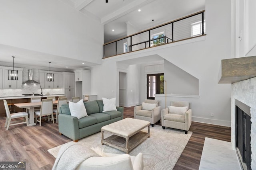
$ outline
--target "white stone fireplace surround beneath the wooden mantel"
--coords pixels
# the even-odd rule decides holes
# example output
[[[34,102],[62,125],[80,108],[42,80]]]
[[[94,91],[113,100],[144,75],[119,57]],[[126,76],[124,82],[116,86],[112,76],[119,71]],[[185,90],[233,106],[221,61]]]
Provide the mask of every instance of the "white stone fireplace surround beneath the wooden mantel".
[[[251,168],[256,169],[256,77],[232,83],[231,94],[231,143],[236,148],[236,103],[235,100],[250,106],[251,112]]]

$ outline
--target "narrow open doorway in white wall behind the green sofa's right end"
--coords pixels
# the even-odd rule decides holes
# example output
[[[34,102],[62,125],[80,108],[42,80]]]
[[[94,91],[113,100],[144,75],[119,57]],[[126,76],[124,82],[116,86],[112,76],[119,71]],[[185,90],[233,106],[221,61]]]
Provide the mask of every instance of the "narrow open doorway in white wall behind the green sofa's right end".
[[[119,106],[127,107],[127,73],[119,72]]]

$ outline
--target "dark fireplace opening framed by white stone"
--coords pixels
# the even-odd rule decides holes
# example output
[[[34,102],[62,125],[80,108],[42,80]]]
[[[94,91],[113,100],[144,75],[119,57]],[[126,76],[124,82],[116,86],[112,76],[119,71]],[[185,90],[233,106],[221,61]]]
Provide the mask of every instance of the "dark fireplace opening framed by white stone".
[[[236,151],[244,170],[251,170],[250,107],[236,100]]]

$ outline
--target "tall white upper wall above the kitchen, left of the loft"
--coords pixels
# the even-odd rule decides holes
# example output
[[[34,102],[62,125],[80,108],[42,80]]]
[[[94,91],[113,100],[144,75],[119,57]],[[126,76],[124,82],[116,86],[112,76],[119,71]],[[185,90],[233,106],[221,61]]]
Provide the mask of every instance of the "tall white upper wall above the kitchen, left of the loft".
[[[63,2],[6,0],[0,11],[0,44],[101,63],[103,25]]]

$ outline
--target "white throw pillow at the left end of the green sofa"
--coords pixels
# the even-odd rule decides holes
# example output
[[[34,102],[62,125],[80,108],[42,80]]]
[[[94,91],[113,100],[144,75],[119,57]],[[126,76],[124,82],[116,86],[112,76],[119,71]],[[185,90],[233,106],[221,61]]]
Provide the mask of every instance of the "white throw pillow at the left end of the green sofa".
[[[77,117],[78,119],[88,116],[83,100],[79,100],[77,103],[68,102],[68,106],[72,116]]]

